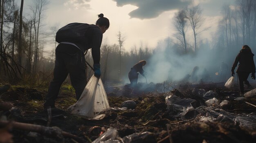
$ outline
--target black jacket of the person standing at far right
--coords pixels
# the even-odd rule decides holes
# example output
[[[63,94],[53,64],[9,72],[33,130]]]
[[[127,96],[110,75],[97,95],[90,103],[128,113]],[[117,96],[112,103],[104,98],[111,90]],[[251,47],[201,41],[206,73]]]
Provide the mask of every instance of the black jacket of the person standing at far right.
[[[238,72],[249,72],[255,73],[255,64],[253,60],[254,54],[252,53],[251,49],[245,48],[240,50],[240,53],[236,56],[236,60],[232,66],[232,70],[235,70],[238,62],[238,68],[236,73]]]

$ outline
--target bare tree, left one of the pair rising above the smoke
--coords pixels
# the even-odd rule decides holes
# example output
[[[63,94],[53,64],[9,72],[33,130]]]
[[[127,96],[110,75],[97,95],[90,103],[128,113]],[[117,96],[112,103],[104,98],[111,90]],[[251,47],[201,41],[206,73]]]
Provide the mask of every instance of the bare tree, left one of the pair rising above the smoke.
[[[174,16],[174,26],[179,35],[182,35],[182,45],[184,45],[185,53],[187,52],[187,44],[186,44],[186,29],[187,29],[187,19],[186,19],[186,11],[184,9],[179,10],[175,13]],[[181,41],[181,40],[180,40]]]

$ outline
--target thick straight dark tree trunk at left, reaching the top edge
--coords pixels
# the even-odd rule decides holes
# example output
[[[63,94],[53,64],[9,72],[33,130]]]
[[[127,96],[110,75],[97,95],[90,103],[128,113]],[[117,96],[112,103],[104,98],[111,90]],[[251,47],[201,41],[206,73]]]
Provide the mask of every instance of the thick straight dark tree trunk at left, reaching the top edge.
[[[22,65],[22,11],[23,11],[23,2],[24,0],[21,0],[20,4],[20,29],[19,29],[19,43],[18,43],[18,63]]]

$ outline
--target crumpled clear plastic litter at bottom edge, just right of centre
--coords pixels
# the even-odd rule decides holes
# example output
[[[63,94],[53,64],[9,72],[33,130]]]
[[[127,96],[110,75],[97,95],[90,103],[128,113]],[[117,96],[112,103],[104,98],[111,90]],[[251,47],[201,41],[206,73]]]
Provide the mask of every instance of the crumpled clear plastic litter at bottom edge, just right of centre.
[[[140,132],[124,136],[124,143],[156,143],[152,132]]]

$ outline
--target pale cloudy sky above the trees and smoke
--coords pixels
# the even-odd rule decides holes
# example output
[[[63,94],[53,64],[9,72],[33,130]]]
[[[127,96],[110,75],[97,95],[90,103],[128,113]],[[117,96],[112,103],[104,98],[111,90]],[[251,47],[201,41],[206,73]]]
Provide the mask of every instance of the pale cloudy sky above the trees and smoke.
[[[236,0],[49,0],[43,15],[44,29],[58,25],[59,28],[71,22],[95,24],[97,14],[103,13],[110,20],[110,28],[103,34],[103,42],[117,42],[120,30],[126,37],[124,48],[139,46],[141,42],[155,47],[159,40],[173,37],[172,18],[178,9],[194,2],[200,4],[205,17],[203,27],[210,27],[201,34],[201,40],[211,40],[216,31],[221,9],[224,4],[234,4]],[[29,14],[33,0],[24,1],[24,14]],[[17,0],[20,5],[20,0]],[[189,38],[189,42],[193,39]],[[174,38],[175,39],[175,38]],[[52,47],[45,45],[46,50]]]

